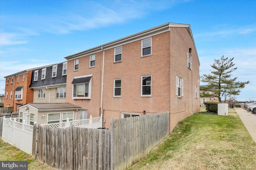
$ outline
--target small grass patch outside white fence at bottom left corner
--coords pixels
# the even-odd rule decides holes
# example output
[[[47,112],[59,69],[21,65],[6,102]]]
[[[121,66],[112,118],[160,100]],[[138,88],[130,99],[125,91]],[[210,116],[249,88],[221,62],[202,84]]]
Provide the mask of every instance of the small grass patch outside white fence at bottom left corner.
[[[9,145],[0,139],[0,160],[25,160],[28,161],[28,169],[29,170],[53,170],[52,168],[40,164],[38,160],[31,157],[30,154],[23,152],[22,150]]]

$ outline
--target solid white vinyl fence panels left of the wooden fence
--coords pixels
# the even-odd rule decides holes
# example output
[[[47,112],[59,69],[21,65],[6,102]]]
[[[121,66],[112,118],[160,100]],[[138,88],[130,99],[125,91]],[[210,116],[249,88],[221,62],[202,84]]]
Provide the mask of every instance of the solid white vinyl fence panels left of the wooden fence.
[[[4,117],[2,140],[32,154],[33,125],[20,123],[16,118]]]

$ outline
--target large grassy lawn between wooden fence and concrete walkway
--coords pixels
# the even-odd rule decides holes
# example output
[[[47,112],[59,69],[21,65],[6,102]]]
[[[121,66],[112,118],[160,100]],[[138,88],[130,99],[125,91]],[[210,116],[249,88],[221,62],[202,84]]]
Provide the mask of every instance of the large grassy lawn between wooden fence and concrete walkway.
[[[228,116],[206,113],[178,123],[130,170],[255,170],[256,143],[235,110],[230,109]]]

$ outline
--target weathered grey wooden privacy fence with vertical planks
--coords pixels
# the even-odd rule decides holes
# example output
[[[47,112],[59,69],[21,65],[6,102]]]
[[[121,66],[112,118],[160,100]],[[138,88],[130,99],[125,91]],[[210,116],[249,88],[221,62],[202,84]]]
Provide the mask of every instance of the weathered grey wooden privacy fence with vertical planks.
[[[169,112],[112,119],[110,130],[34,125],[33,134],[32,156],[52,168],[126,170],[169,135]]]

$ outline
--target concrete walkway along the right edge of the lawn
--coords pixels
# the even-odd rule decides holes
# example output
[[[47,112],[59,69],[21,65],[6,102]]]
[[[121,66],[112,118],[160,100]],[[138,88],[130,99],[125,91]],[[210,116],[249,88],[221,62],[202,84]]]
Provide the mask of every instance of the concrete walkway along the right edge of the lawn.
[[[234,109],[252,136],[252,139],[256,142],[256,114],[247,111],[243,107],[236,107]]]

